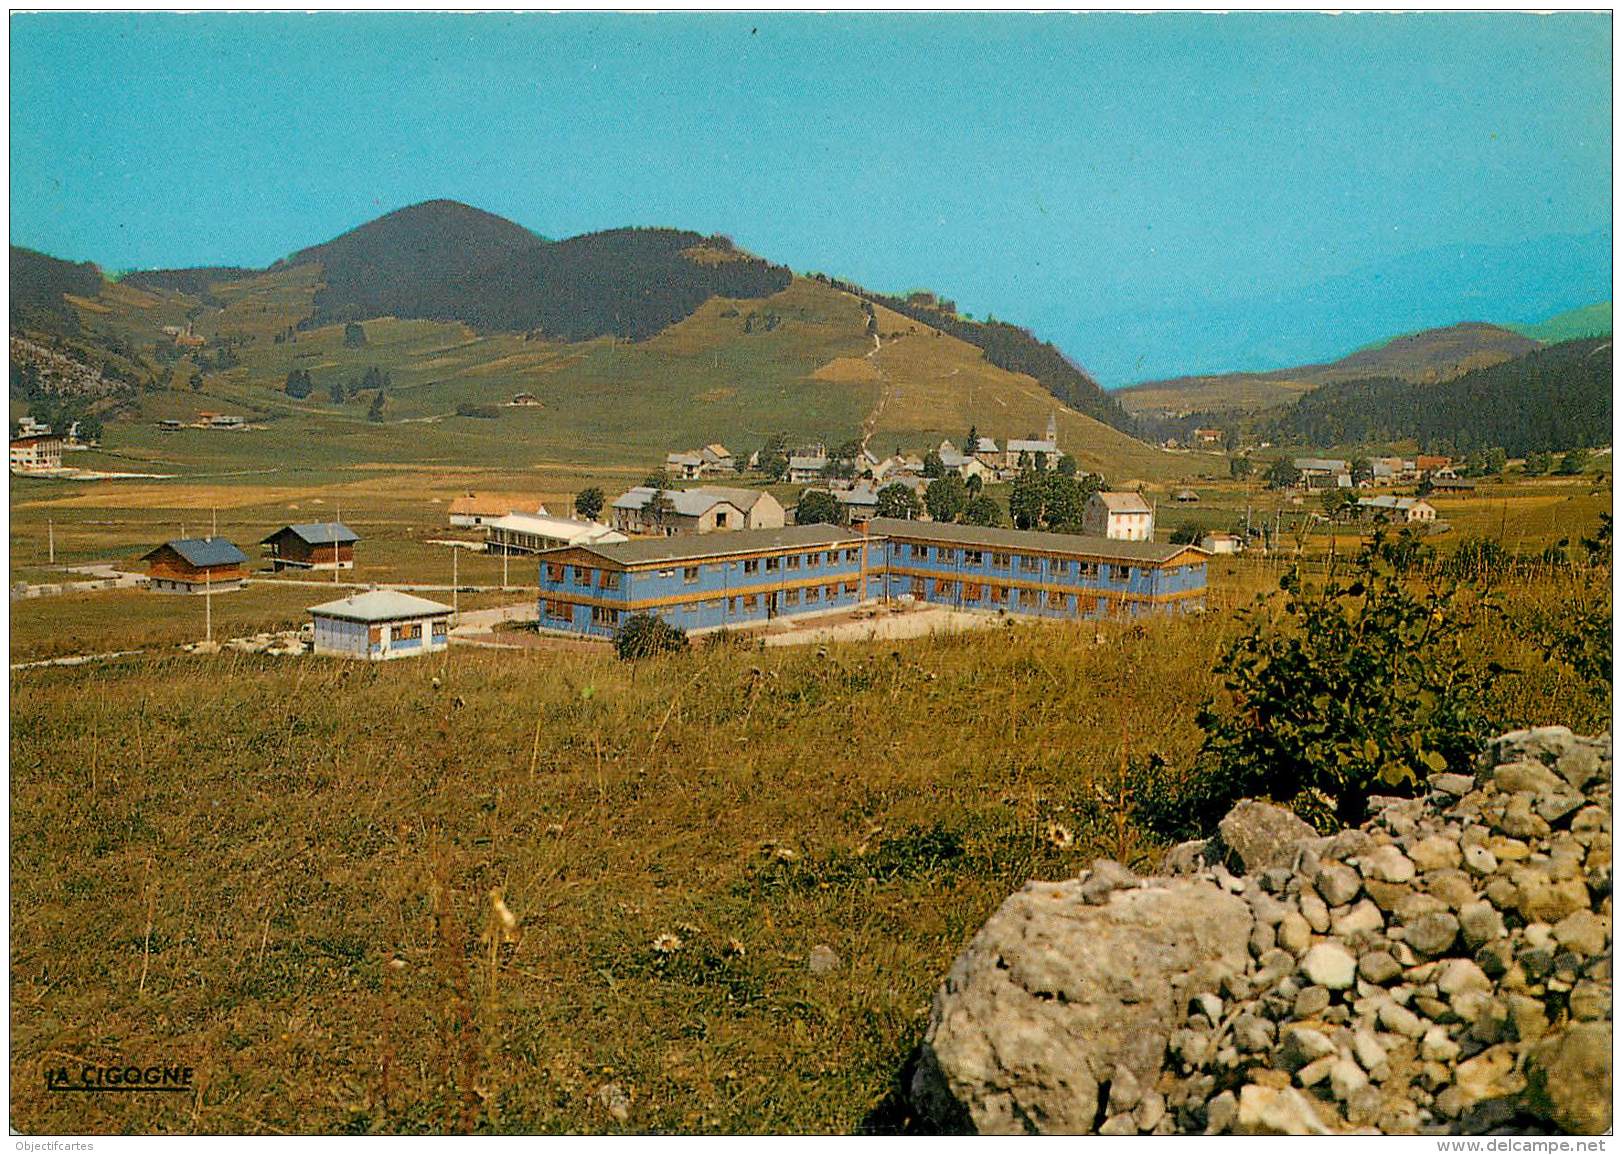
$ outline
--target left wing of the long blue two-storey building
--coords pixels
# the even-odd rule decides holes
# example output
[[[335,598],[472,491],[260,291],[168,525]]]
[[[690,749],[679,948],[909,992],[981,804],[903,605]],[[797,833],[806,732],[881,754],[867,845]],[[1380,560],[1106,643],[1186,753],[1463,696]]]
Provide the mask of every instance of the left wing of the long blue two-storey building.
[[[848,608],[879,595],[869,560],[882,548],[837,526],[790,526],[548,550],[540,625],[608,638],[639,612],[714,629]]]

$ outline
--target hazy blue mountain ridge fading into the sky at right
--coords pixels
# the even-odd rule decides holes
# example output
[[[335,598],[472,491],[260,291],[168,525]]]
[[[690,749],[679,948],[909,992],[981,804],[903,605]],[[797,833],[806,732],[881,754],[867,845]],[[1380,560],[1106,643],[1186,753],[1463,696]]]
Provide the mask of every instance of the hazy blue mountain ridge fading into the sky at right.
[[[1611,234],[1406,253],[1314,284],[1066,326],[1105,381],[1315,365],[1460,318],[1536,321],[1611,295]]]

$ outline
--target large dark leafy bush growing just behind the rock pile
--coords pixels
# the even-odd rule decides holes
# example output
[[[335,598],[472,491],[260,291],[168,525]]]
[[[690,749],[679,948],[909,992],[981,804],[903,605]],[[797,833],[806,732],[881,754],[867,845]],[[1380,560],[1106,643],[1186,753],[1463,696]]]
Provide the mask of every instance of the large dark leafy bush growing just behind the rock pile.
[[[1312,589],[1286,574],[1283,621],[1244,615],[1249,629],[1215,665],[1233,706],[1197,715],[1207,822],[1247,795],[1293,803],[1309,790],[1356,822],[1369,793],[1413,790],[1479,749],[1484,686],[1461,660],[1463,602],[1406,582],[1382,547],[1377,534],[1350,581]]]

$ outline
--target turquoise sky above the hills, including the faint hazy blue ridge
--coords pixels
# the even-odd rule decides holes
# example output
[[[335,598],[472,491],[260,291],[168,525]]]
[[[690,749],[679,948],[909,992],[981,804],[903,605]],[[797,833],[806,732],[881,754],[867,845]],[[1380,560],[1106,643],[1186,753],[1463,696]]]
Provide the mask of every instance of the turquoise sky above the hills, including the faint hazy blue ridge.
[[[1611,295],[1604,13],[36,13],[10,34],[11,242],[109,271],[261,266],[444,196],[548,237],[723,232],[936,289],[1106,384],[1346,352],[1382,336],[1382,294],[1392,324]],[[1591,260],[1564,289],[1507,256],[1573,238]],[[1460,266],[1492,284],[1403,277],[1437,251],[1492,253]],[[1372,313],[1324,303],[1348,277]],[[1294,344],[1234,339],[1247,302]]]

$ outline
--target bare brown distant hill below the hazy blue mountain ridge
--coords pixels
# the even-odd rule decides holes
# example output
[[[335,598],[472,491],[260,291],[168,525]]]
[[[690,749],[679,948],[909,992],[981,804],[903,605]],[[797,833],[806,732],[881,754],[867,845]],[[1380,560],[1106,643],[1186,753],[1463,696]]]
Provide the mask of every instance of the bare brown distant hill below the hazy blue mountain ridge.
[[[1424,329],[1359,349],[1340,360],[1267,373],[1223,373],[1145,381],[1114,396],[1134,414],[1220,415],[1288,404],[1335,381],[1393,378],[1416,384],[1448,381],[1473,368],[1531,352],[1538,342],[1497,324],[1466,321]]]

